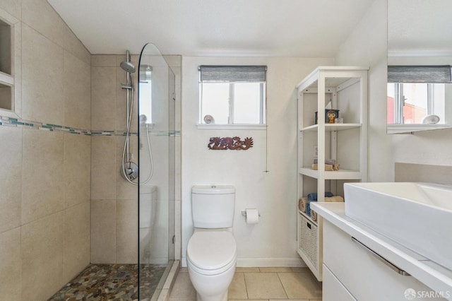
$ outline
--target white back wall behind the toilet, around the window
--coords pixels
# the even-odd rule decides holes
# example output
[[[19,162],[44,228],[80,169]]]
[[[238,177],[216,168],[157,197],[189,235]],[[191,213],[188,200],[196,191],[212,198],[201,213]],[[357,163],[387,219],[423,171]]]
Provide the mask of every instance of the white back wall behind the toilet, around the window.
[[[182,62],[182,264],[193,232],[191,187],[236,187],[234,237],[238,266],[299,266],[296,249],[297,95],[295,85],[333,59],[183,57]],[[267,65],[268,146],[264,130],[197,129],[198,65]],[[210,151],[213,136],[252,137],[247,151]],[[267,152],[266,152],[267,151]],[[268,156],[268,170],[266,170]],[[247,225],[240,211],[256,207],[260,223]]]

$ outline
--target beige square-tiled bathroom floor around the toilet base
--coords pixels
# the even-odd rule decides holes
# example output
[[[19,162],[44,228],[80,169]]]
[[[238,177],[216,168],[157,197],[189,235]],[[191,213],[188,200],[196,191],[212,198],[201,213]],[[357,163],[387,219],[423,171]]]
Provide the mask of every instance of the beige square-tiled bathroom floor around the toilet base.
[[[309,268],[236,268],[228,293],[231,301],[321,301],[321,283]],[[169,301],[196,300],[189,273],[181,268]]]

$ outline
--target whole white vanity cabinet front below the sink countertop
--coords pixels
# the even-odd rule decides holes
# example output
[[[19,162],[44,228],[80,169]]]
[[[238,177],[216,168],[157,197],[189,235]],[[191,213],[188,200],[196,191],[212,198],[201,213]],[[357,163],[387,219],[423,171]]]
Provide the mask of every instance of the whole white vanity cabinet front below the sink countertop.
[[[446,300],[323,219],[323,301]],[[392,265],[392,266],[391,266]],[[427,297],[410,292],[424,293]]]

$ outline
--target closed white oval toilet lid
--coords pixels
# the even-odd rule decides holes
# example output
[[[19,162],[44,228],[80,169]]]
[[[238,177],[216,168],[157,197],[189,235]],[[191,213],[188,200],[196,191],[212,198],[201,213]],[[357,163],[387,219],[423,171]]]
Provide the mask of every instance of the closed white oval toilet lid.
[[[186,247],[189,260],[203,270],[216,270],[237,256],[234,236],[227,231],[194,232]]]

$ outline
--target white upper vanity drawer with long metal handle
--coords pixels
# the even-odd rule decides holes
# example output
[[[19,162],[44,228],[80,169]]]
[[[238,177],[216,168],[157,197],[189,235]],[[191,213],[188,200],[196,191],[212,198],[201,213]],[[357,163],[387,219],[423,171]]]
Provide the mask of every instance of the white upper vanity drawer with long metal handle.
[[[406,301],[405,290],[409,288],[415,292],[432,291],[416,278],[393,271],[326,220],[323,220],[323,263],[359,301]]]

